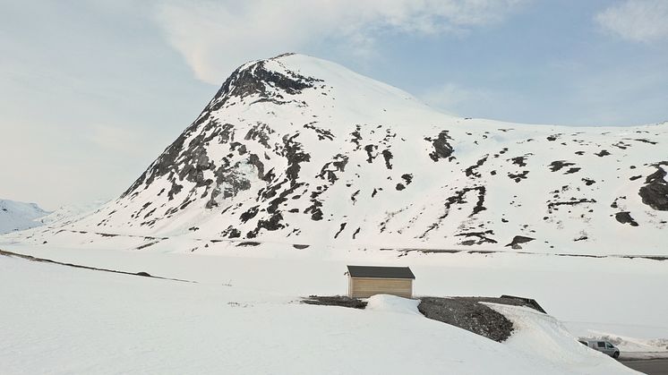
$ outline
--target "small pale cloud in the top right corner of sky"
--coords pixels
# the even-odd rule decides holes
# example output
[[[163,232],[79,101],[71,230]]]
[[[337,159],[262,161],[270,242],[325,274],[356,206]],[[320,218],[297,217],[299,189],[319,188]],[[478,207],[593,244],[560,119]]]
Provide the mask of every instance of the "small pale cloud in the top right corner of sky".
[[[604,30],[631,41],[668,39],[668,1],[627,0],[596,14],[595,21]]]

